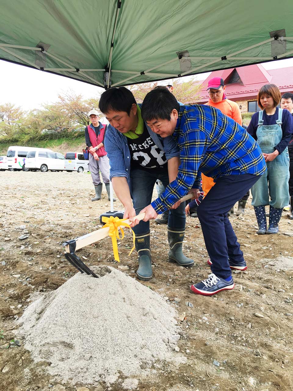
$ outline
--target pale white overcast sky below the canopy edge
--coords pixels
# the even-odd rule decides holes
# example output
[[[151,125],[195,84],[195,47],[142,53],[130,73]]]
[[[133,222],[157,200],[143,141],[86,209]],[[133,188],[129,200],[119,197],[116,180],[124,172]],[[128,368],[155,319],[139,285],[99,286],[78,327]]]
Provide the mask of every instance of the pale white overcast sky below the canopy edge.
[[[264,63],[263,66],[265,69],[293,66],[293,59],[272,61]],[[103,88],[91,84],[1,60],[0,75],[0,104],[11,102],[25,110],[40,108],[42,103],[55,102],[59,93],[68,90],[82,94],[84,98],[96,97],[104,91]],[[204,80],[207,75],[209,74],[200,74],[196,78]],[[186,79],[186,77],[182,77],[182,79]]]

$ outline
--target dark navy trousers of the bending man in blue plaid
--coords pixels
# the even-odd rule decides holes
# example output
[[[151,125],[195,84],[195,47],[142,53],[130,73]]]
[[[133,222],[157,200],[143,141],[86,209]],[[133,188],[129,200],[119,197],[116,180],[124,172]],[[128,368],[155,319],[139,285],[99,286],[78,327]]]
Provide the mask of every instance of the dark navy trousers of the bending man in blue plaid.
[[[229,258],[236,263],[243,261],[243,252],[227,213],[259,178],[252,174],[222,176],[197,208],[205,247],[213,263],[211,270],[218,277],[231,275]]]

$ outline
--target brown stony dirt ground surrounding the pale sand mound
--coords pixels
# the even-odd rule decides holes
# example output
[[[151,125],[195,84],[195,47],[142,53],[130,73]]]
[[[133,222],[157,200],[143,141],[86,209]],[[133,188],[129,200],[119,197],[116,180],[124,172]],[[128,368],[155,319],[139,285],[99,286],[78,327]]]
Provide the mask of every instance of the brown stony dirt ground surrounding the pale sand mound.
[[[32,293],[57,289],[77,273],[65,260],[62,243],[100,228],[99,215],[109,210],[110,203],[105,188],[103,199],[91,202],[93,185],[86,173],[5,171],[0,178],[0,345],[4,345],[17,338],[15,319],[29,305]],[[139,381],[139,390],[293,390],[293,221],[284,212],[278,235],[255,235],[250,203],[251,199],[244,217],[230,218],[248,269],[233,273],[233,291],[210,298],[189,290],[210,271],[198,219],[188,217],[186,222],[184,252],[196,262],[192,269],[167,262],[166,226],[151,222],[154,278],[141,283],[178,311],[183,335],[179,347],[187,362],[156,368],[147,381]],[[117,201],[115,208],[121,210],[122,205]],[[29,236],[21,240],[21,235]],[[128,256],[131,241],[128,232],[118,246],[120,265],[129,267],[123,273],[134,277],[137,255],[134,251]],[[78,254],[88,258],[84,262],[89,267],[119,265],[110,238]],[[115,384],[61,386],[46,372],[50,362],[32,362],[20,343],[0,350],[1,391],[121,389]]]

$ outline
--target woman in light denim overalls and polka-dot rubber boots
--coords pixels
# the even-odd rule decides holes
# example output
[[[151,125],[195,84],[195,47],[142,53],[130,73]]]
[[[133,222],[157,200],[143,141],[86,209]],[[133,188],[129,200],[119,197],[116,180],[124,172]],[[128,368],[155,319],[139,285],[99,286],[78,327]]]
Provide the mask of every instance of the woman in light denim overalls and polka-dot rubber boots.
[[[293,120],[288,110],[277,107],[280,99],[281,94],[275,84],[263,86],[257,95],[263,111],[252,116],[247,129],[261,147],[267,166],[267,172],[252,187],[251,204],[259,226],[258,235],[278,233],[283,208],[289,204],[287,145],[293,132]],[[270,205],[268,229],[265,205]]]

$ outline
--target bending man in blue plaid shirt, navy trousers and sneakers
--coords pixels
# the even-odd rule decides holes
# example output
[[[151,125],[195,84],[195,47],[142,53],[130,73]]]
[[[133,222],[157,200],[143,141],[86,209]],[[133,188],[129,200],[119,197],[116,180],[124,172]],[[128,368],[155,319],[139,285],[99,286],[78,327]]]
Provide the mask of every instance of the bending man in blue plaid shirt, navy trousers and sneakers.
[[[233,289],[231,269],[246,270],[247,265],[227,212],[266,171],[261,149],[243,127],[220,110],[206,105],[179,106],[167,90],[150,91],[141,116],[159,137],[173,135],[181,161],[177,178],[141,211],[146,213],[144,220],[177,208],[179,199],[190,190],[197,198],[201,172],[214,178],[216,184],[197,210],[212,273],[191,290],[211,296]]]

